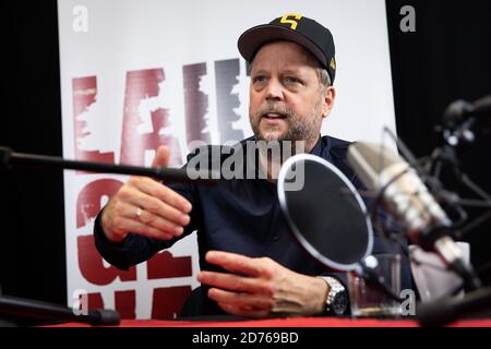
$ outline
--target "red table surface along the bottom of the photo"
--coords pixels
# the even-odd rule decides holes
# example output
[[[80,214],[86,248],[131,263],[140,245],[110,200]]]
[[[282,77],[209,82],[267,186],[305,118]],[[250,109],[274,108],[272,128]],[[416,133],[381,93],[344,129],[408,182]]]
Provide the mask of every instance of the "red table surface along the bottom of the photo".
[[[81,323],[67,323],[49,327],[86,327]],[[336,318],[336,317],[292,317],[244,321],[161,321],[122,320],[117,327],[418,327],[412,320]],[[491,327],[491,318],[462,320],[450,327]]]

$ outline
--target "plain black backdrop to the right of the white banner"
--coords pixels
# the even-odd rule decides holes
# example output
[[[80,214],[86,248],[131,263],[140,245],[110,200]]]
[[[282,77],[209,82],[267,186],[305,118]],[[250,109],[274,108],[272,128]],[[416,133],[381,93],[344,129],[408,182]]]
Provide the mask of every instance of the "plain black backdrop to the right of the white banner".
[[[415,9],[414,33],[399,28],[404,5]],[[444,110],[451,103],[491,95],[491,2],[386,0],[386,8],[397,133],[418,157],[427,156],[442,144],[436,130],[444,124]],[[484,124],[479,125],[476,142],[458,147],[457,158],[462,170],[490,192],[491,140]],[[451,176],[448,167],[442,180],[445,189],[470,197],[471,192]],[[483,213],[468,209],[469,221]],[[491,220],[463,240],[470,243],[472,262],[489,284]]]

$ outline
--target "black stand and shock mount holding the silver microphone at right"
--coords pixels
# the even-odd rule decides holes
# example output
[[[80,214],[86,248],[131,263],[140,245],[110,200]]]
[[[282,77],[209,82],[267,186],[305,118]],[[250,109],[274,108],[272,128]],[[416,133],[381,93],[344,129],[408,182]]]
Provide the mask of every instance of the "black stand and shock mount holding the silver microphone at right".
[[[467,120],[467,122],[465,122],[465,125],[462,127],[462,129],[467,129],[471,124],[472,122]],[[420,177],[424,178],[423,182],[427,182],[430,190],[434,191],[435,189],[438,189],[439,194],[435,195],[435,198],[438,201],[443,201],[446,204],[453,206],[453,208],[460,216],[460,219],[457,224],[452,222],[448,226],[430,225],[430,227],[427,227],[426,229],[423,229],[423,231],[420,231],[417,244],[421,245],[424,250],[430,251],[434,245],[435,252],[442,255],[444,262],[448,261],[448,263],[446,263],[447,268],[455,272],[459,277],[462,277],[466,286],[476,290],[469,296],[468,299],[466,299],[466,302],[462,304],[458,303],[458,301],[456,300],[453,299],[448,300],[445,298],[443,301],[436,301],[430,304],[421,305],[418,310],[419,313],[418,318],[421,325],[424,326],[428,324],[431,325],[445,324],[447,322],[451,322],[453,318],[456,318],[463,313],[471,313],[472,311],[491,306],[491,288],[486,291],[481,290],[481,281],[477,273],[474,270],[472,266],[470,264],[466,265],[465,263],[463,263],[462,257],[458,257],[458,253],[456,253],[457,251],[455,251],[455,254],[453,255],[454,249],[452,248],[454,243],[450,238],[452,234],[455,233],[456,228],[460,228],[467,220],[467,214],[460,207],[460,205],[491,208],[490,195],[486,193],[483,190],[481,190],[465,173],[460,171],[458,167],[456,152],[453,148],[454,145],[452,145],[451,142],[445,144],[444,147],[439,147],[436,151],[434,151],[429,161],[427,164],[421,165],[418,160],[416,160],[416,158],[412,156],[410,151],[404,145],[404,143],[400,140],[397,140],[397,137],[392,133],[390,129],[384,128],[384,131],[387,132],[394,139],[399,151],[406,156],[409,165],[417,170]],[[464,131],[458,132],[458,134],[467,135],[467,133]],[[468,140],[474,139],[469,137]],[[450,163],[452,165],[454,173],[457,174],[458,179],[465,185],[467,185],[475,194],[480,196],[482,201],[460,200],[460,197],[456,193],[445,191],[439,179],[440,170],[444,163]],[[375,212],[376,207],[381,205],[382,202],[381,197],[383,192],[392,182],[396,181],[403,174],[404,172],[395,174],[394,178],[392,178],[388,183],[386,183],[380,191],[378,191],[374,200],[375,203],[372,206],[372,209],[370,210],[370,216],[372,217],[372,220],[376,221]],[[469,226],[476,225],[471,222]],[[466,227],[466,229],[468,227]],[[439,245],[436,245],[435,242],[438,242]],[[451,308],[451,305],[453,306],[452,312],[448,313],[447,311],[443,310],[443,308],[445,306]]]

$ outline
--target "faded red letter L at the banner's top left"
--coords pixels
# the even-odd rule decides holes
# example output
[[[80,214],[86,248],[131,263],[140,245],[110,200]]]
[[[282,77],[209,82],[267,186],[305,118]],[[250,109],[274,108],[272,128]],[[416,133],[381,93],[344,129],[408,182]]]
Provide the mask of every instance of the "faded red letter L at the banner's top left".
[[[83,151],[79,147],[81,140],[88,135],[87,131],[84,131],[86,122],[80,120],[80,116],[87,111],[88,108],[96,103],[97,96],[97,77],[85,76],[76,77],[72,80],[73,88],[73,124],[74,124],[74,141],[75,141],[75,158],[77,160],[85,161],[101,161],[101,163],[115,163],[115,153],[100,153],[97,151]],[[77,171],[77,173],[84,173]]]

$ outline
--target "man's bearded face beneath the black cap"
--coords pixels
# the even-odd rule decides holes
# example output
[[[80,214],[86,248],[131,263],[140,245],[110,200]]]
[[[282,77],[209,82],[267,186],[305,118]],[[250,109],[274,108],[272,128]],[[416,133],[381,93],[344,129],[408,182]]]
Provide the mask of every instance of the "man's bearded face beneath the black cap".
[[[249,105],[256,140],[306,141],[310,151],[333,104],[334,88],[321,85],[315,61],[302,47],[275,41],[258,51]]]

